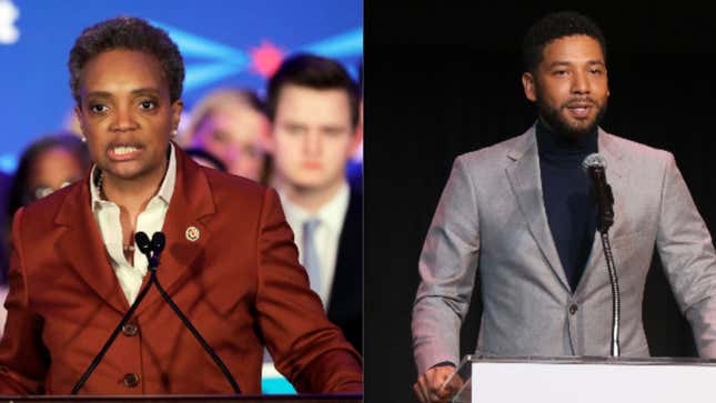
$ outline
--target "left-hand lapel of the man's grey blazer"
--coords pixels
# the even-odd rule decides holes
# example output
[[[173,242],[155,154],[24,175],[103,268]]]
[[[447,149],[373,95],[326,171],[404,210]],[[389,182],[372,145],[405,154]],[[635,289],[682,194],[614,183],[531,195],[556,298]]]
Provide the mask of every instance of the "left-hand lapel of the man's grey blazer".
[[[539,246],[544,259],[549,263],[562,285],[568,291],[569,284],[562,268],[557,248],[554,244],[547,214],[544,210],[539,158],[534,125],[522,135],[520,142],[507,154],[514,161],[505,171],[515,193],[520,209],[525,216],[530,233]]]

